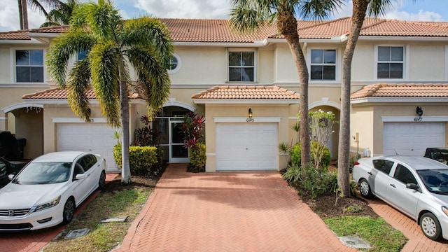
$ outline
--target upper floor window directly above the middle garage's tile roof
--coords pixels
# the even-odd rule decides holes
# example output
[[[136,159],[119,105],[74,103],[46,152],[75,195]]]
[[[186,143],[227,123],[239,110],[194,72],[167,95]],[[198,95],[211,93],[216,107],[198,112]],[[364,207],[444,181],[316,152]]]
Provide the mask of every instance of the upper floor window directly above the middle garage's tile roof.
[[[255,81],[255,52],[229,52],[229,81]]]

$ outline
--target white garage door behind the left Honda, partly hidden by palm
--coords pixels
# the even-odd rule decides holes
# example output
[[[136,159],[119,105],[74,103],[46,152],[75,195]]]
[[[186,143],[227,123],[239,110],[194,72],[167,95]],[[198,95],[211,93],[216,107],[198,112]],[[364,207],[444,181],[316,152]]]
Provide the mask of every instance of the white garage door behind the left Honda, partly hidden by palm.
[[[106,159],[107,172],[118,172],[113,159],[113,129],[106,123],[58,123],[57,151],[90,151]]]

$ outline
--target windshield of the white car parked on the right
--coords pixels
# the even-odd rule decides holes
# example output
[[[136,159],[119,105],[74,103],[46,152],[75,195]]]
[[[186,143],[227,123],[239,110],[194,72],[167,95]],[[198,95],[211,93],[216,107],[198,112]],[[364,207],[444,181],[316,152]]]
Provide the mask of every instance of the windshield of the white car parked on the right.
[[[448,169],[425,169],[416,172],[431,193],[448,195]]]

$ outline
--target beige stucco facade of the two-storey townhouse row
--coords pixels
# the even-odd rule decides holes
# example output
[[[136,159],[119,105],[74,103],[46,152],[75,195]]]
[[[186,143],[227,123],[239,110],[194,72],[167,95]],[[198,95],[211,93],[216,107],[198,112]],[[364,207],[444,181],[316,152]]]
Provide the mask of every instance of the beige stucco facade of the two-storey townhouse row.
[[[55,36],[56,34],[50,34]],[[48,38],[50,39],[50,38]],[[57,151],[57,120],[55,118],[76,118],[66,100],[40,100],[37,102],[22,99],[24,94],[46,90],[51,85],[48,73],[44,73],[43,83],[15,82],[15,50],[42,49],[47,43],[35,39],[31,41],[0,41],[0,131],[9,130],[16,137],[27,139],[26,158],[50,151]],[[343,37],[325,39],[302,39],[304,57],[311,67],[311,50],[335,50],[335,80],[309,80],[309,109],[332,111],[339,120],[341,110],[342,55],[346,41]],[[378,79],[377,50],[379,46],[398,46],[404,50],[403,78]],[[254,52],[255,77],[253,82],[229,82],[229,52]],[[207,172],[216,171],[216,118],[230,118],[235,123],[245,121],[248,108],[254,113],[255,123],[266,118],[280,118],[278,122],[278,142],[297,142],[297,132],[291,125],[297,123],[300,105],[297,102],[276,101],[262,103],[242,100],[237,102],[198,102],[193,94],[200,93],[216,85],[255,85],[279,86],[286,90],[299,92],[299,76],[286,40],[267,38],[254,43],[175,43],[175,53],[179,60],[176,71],[170,72],[172,89],[165,107],[180,107],[204,115],[206,123]],[[442,38],[412,38],[409,36],[360,36],[353,55],[351,67],[351,91],[375,83],[447,83],[448,82],[448,45]],[[135,77],[135,76],[134,76]],[[398,118],[402,122],[414,122],[415,107],[422,106],[423,120],[437,120],[445,124],[448,130],[448,109],[445,100],[414,99],[399,102],[391,97],[384,102],[354,102],[351,105],[352,153],[363,154],[369,148],[372,155],[383,153],[383,128],[385,117]],[[130,104],[130,136],[141,127],[140,116],[146,114],[142,100]],[[92,118],[104,118],[95,101],[92,101]],[[400,119],[401,118],[401,119]],[[68,120],[68,119],[66,119]],[[395,120],[395,119],[394,119]],[[29,127],[32,125],[32,127]],[[332,159],[337,159],[339,125],[333,127],[334,133],[328,147]],[[131,139],[134,141],[134,139]],[[448,136],[444,134],[448,145]],[[278,169],[286,167],[286,161],[279,158]]]

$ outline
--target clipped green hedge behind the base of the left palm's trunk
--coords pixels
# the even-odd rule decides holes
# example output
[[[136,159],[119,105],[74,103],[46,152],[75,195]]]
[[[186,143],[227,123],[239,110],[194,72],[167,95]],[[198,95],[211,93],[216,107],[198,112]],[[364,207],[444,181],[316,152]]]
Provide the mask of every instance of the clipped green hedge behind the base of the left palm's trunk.
[[[122,166],[121,145],[113,147],[113,158],[118,167]],[[153,146],[130,146],[129,165],[132,175],[145,175],[158,166],[158,148]]]

